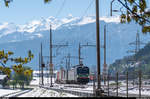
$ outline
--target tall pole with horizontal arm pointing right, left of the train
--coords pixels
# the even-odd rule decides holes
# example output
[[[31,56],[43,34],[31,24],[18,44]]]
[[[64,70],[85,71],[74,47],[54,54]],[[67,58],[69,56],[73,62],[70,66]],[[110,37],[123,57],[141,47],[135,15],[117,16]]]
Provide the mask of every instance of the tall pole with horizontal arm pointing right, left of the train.
[[[50,87],[53,87],[53,84],[52,84],[52,77],[53,77],[53,56],[52,56],[52,49],[54,47],[65,47],[65,46],[68,46],[68,43],[66,45],[53,45],[53,42],[52,42],[52,27],[50,25],[50,75],[51,75],[51,85]]]

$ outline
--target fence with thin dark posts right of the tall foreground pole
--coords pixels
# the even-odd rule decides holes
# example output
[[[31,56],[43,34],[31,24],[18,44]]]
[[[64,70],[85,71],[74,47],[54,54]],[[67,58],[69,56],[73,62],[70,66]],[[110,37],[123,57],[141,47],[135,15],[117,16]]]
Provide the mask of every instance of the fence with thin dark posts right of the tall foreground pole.
[[[131,77],[131,74],[126,72],[125,75],[121,75],[116,72],[115,76],[107,75],[107,91],[108,96],[116,97],[150,97],[150,94],[142,94],[142,91],[150,91],[150,81],[144,79],[141,71],[137,71],[135,76]],[[110,83],[111,82],[111,83]]]

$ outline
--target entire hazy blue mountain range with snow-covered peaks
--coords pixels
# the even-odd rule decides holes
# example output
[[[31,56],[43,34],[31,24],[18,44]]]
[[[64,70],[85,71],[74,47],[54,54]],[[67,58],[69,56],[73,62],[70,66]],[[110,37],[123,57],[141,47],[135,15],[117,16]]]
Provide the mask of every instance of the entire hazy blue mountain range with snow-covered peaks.
[[[103,45],[103,28],[107,26],[107,63],[110,64],[116,59],[122,58],[127,50],[134,49],[129,46],[130,42],[135,41],[137,30],[141,27],[131,22],[130,24],[119,23],[119,17],[101,17],[100,18],[100,34],[101,45]],[[43,55],[49,55],[49,29],[52,26],[53,43],[65,44],[69,42],[67,48],[54,48],[54,64],[63,65],[63,56],[71,53],[78,56],[78,43],[96,44],[96,23],[95,16],[73,17],[57,19],[55,17],[41,18],[33,20],[24,25],[15,23],[0,23],[0,50],[11,50],[16,56],[26,56],[29,49],[35,55],[31,62],[34,69],[38,69],[38,54],[40,52],[40,43],[43,42]],[[145,43],[149,41],[149,35],[142,35],[140,39]],[[142,47],[142,46],[141,46]],[[96,65],[96,48],[86,47],[82,50],[81,57],[84,58],[83,63],[88,66]],[[61,54],[61,55],[60,55]],[[60,57],[62,56],[62,57]],[[103,48],[101,48],[101,58],[103,64]],[[46,60],[45,60],[46,62]],[[77,64],[78,60],[73,59],[72,65]],[[59,65],[58,65],[59,64]]]

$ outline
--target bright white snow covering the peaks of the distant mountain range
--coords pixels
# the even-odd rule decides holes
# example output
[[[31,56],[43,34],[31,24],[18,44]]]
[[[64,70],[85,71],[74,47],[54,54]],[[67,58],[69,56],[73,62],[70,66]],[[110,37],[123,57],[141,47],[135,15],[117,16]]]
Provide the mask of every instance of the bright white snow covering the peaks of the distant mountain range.
[[[100,20],[105,21],[106,23],[110,22],[120,22],[119,16],[114,17],[100,17]],[[65,18],[55,18],[53,16],[50,16],[48,18],[41,17],[40,20],[33,20],[23,25],[16,25],[14,23],[1,23],[0,24],[0,37],[11,34],[11,33],[27,33],[27,34],[37,34],[34,36],[42,37],[39,32],[49,30],[49,25],[52,25],[52,29],[56,30],[59,27],[65,26],[70,28],[70,26],[75,25],[84,25],[93,23],[96,21],[95,16],[84,16],[84,17],[74,17],[72,14],[69,14]]]

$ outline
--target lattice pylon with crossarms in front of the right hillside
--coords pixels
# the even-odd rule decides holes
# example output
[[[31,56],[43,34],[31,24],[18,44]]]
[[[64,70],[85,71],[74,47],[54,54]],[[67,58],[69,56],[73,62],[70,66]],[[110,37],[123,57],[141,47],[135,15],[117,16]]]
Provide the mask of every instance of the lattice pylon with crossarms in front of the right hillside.
[[[144,45],[144,44],[145,43],[140,41],[140,36],[139,36],[138,31],[137,31],[136,40],[134,42],[129,43],[129,45],[135,45],[135,50],[129,50],[129,51],[127,51],[127,53],[134,53],[134,55],[136,55],[137,52],[140,50],[140,46]],[[135,59],[131,60],[131,61],[134,61],[136,63],[137,62],[137,57],[135,57]],[[135,73],[135,66],[134,66],[134,72],[133,73]],[[133,86],[134,86],[134,83],[135,83],[134,79],[135,79],[135,76],[133,74]]]

